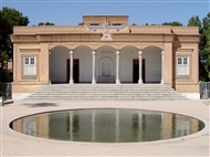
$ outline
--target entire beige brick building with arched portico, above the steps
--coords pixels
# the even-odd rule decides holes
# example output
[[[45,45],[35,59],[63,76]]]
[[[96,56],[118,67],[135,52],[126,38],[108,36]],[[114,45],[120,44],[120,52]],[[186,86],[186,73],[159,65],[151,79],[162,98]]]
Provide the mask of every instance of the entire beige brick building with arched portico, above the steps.
[[[53,83],[158,83],[200,97],[199,28],[128,25],[128,15],[83,20],[84,25],[14,27],[14,97]]]

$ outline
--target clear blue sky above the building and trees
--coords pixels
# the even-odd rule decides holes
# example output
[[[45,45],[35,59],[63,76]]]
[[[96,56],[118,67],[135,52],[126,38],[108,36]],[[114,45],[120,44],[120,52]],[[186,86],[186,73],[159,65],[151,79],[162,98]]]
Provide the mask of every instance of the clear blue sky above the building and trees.
[[[78,24],[83,14],[127,14],[129,24],[179,21],[187,25],[192,15],[204,18],[210,0],[0,0],[29,17],[30,23]]]

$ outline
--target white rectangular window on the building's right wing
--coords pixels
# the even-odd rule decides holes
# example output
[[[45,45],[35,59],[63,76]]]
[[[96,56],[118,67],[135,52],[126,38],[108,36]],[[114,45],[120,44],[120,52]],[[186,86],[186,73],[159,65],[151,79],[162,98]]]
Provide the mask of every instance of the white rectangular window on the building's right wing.
[[[189,75],[189,56],[177,56],[177,75]]]

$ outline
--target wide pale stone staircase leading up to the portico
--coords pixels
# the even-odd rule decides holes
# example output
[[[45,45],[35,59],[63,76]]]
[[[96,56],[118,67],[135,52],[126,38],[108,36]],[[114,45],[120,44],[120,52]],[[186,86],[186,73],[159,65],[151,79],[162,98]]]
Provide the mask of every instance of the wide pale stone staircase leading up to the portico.
[[[25,101],[185,101],[180,93],[161,84],[53,84],[43,85]]]

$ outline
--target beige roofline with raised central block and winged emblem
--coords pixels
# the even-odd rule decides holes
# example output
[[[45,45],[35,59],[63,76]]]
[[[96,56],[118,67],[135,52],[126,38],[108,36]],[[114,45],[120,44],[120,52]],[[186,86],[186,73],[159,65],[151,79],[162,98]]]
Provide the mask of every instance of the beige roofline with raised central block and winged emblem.
[[[198,27],[129,25],[128,15],[83,15],[84,25],[14,27],[13,43],[181,42],[199,43]]]

